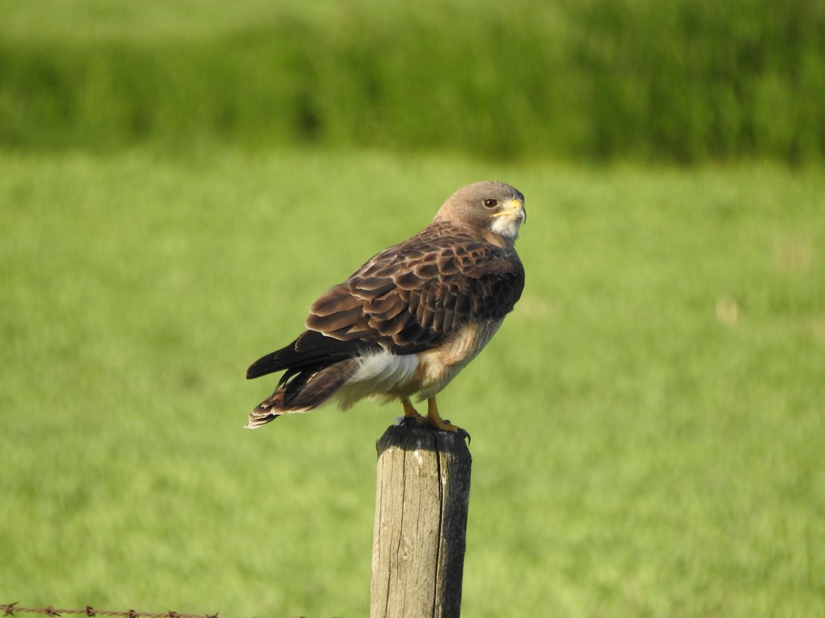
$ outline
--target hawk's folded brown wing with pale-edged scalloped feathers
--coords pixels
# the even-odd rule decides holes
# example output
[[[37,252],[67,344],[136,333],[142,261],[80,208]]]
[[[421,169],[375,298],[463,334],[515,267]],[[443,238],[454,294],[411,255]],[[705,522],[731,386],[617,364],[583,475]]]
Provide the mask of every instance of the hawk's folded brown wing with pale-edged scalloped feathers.
[[[333,339],[413,353],[470,321],[502,319],[523,287],[514,251],[441,222],[375,255],[328,290],[311,307],[306,326]]]

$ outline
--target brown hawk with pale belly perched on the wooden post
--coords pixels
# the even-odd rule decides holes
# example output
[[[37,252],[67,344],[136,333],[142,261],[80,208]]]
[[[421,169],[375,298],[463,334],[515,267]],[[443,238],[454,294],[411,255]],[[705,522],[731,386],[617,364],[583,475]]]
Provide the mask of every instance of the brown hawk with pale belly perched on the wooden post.
[[[459,432],[436,395],[495,335],[524,288],[515,242],[524,195],[502,182],[453,194],[430,225],[367,260],[310,308],[306,330],[252,363],[247,378],[283,371],[249,414],[257,428],[329,400],[400,400],[404,416]],[[427,400],[427,416],[411,398]]]

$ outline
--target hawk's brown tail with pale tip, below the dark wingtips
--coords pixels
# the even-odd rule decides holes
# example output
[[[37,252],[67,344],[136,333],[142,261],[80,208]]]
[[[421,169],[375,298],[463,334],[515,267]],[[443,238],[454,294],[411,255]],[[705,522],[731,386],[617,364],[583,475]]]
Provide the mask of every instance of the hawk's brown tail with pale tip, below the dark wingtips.
[[[288,369],[276,391],[249,414],[246,427],[261,427],[281,414],[314,410],[347,383],[356,364],[356,359],[347,358],[332,364]]]

